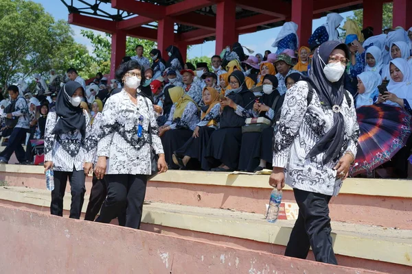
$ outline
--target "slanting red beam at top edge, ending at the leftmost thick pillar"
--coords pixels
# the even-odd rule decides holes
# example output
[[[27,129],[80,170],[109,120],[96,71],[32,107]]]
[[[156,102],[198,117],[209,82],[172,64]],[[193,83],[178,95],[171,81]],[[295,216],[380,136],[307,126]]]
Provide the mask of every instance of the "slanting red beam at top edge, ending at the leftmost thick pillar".
[[[164,5],[155,5],[135,0],[111,0],[111,5],[112,8],[133,12],[156,21],[161,20],[166,14],[166,7]]]

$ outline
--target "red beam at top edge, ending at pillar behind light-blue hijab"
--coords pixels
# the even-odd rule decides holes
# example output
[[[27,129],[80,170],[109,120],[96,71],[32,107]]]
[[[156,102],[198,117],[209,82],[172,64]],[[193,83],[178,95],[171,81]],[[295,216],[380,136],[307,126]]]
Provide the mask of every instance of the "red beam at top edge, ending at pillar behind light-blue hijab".
[[[277,17],[290,15],[291,10],[290,3],[285,3],[280,0],[236,0],[236,4],[238,5],[238,7],[245,10],[251,10],[252,12],[259,12],[262,14],[268,14]]]

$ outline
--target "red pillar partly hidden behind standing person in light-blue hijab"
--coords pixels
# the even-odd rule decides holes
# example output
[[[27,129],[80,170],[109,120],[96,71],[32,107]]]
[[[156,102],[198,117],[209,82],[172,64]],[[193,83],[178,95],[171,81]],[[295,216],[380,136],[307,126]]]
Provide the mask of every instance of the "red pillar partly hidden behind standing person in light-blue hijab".
[[[299,47],[308,46],[312,34],[313,0],[292,0],[292,21],[297,23]]]

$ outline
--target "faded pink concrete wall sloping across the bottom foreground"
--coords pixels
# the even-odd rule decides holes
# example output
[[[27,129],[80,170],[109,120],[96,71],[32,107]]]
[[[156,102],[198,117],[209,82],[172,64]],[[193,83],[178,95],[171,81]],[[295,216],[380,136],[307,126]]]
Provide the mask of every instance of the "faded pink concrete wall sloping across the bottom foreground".
[[[0,273],[377,273],[0,206]]]

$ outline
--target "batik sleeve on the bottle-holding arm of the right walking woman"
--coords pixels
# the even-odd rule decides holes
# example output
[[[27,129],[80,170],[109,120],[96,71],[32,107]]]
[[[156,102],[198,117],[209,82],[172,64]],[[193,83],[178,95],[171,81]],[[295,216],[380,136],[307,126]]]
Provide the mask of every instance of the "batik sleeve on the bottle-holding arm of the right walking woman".
[[[273,166],[285,168],[288,163],[290,146],[299,133],[308,108],[307,97],[308,84],[306,82],[299,82],[286,92],[279,124],[275,128]]]

